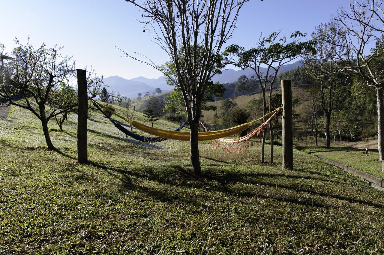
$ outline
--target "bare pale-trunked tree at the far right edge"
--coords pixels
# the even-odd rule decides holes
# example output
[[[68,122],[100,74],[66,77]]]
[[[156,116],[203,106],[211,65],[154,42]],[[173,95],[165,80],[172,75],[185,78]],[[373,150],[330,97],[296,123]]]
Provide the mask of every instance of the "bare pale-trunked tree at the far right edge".
[[[347,52],[339,56],[336,65],[341,71],[360,76],[367,86],[376,89],[380,160],[383,160],[384,153],[383,7],[383,0],[350,0],[349,10],[341,8],[333,17],[344,28],[340,35],[344,38]],[[369,52],[368,47],[373,41],[376,45]]]

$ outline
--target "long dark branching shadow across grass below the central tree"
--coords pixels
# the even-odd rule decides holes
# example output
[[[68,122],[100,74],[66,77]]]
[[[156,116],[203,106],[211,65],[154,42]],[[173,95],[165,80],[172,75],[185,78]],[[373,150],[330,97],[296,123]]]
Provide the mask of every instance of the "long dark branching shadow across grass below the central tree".
[[[131,177],[134,176],[139,179],[151,180],[157,182],[159,184],[168,185],[169,187],[188,187],[192,189],[204,189],[207,192],[222,192],[227,193],[232,196],[236,196],[238,198],[253,198],[253,197],[261,197],[263,199],[273,199],[282,202],[289,202],[291,204],[305,205],[311,207],[333,207],[333,203],[323,203],[321,199],[318,197],[312,196],[320,196],[328,199],[337,199],[346,201],[349,203],[358,203],[361,205],[372,206],[376,208],[383,208],[383,205],[376,204],[370,201],[353,199],[351,197],[343,196],[340,194],[332,194],[329,192],[316,191],[311,187],[296,187],[293,185],[284,184],[285,182],[289,182],[289,179],[306,179],[306,180],[316,180],[319,182],[324,182],[324,186],[329,182],[334,182],[339,184],[337,181],[332,181],[328,179],[321,178],[312,178],[308,176],[300,176],[294,174],[270,174],[270,173],[248,173],[248,174],[237,174],[237,173],[225,173],[225,174],[216,174],[212,171],[205,171],[205,174],[202,176],[195,176],[192,172],[191,166],[182,167],[179,165],[170,165],[166,168],[157,167],[154,169],[153,167],[146,167],[145,169],[139,169],[137,171],[131,171],[127,169],[118,169],[116,167],[105,166],[98,162],[89,162],[90,165],[97,167],[99,169],[103,169],[108,172],[111,176],[114,176],[121,180],[123,183],[120,191],[125,192],[126,189],[129,190],[141,190],[146,194],[151,195],[155,199],[161,201],[170,201],[169,197],[172,197],[172,201],[178,201],[181,203],[190,202],[185,201],[185,197],[177,196],[175,194],[169,195],[166,192],[160,191],[159,189],[148,190],[140,185],[135,185],[132,183]],[[170,171],[170,169],[172,169]],[[118,175],[116,175],[118,174]],[[268,182],[268,179],[273,179],[273,182]],[[288,179],[288,180],[287,180]],[[230,185],[243,183],[245,187],[248,185],[252,185],[251,187],[257,187],[260,185],[259,189],[249,189],[247,190],[236,190],[230,187]],[[247,185],[246,185],[247,184]],[[281,190],[291,190],[295,193],[295,197],[289,197],[284,195],[284,197],[279,195],[268,195],[266,188],[268,189],[281,189]],[[300,196],[300,193],[305,193],[306,196]],[[308,197],[310,195],[311,197]],[[178,197],[178,198],[177,198]]]

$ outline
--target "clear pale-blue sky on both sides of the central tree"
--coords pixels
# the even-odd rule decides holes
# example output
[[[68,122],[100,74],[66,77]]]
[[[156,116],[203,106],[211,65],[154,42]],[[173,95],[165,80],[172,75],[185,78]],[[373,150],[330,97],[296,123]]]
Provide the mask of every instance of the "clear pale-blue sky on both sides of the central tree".
[[[140,1],[140,0],[137,0]],[[228,44],[250,48],[260,36],[282,30],[287,35],[293,31],[310,34],[314,27],[329,21],[348,0],[251,0],[240,11],[234,37]],[[1,0],[0,43],[10,52],[28,35],[34,46],[64,46],[62,53],[73,55],[76,68],[93,66],[99,75],[118,75],[131,79],[138,76],[158,78],[161,73],[150,66],[129,58],[122,58],[122,50],[148,56],[154,63],[168,61],[142,32],[141,13],[124,0]]]

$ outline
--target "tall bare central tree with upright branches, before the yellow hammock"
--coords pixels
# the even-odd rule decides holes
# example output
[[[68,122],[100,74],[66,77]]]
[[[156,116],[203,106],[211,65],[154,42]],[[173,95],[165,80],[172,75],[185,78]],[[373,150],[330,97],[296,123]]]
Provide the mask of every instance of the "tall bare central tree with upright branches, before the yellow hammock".
[[[144,18],[144,32],[146,26],[149,26],[154,41],[168,54],[175,67],[175,78],[167,78],[172,79],[182,93],[190,125],[192,167],[194,173],[200,175],[200,104],[210,79],[223,68],[223,65],[217,65],[217,60],[222,58],[221,48],[232,37],[238,13],[248,0],[126,1],[143,12],[141,16]],[[184,54],[180,54],[181,52]],[[198,54],[201,54],[202,62],[196,61],[200,58]],[[161,71],[150,60],[139,60],[127,53],[126,56]]]

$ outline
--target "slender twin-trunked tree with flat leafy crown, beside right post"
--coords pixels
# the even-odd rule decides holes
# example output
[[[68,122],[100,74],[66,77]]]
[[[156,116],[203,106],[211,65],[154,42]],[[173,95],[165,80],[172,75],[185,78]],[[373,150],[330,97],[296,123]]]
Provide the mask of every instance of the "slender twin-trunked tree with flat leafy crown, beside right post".
[[[271,109],[271,96],[273,84],[276,81],[278,71],[282,65],[295,60],[296,58],[313,53],[315,41],[300,42],[305,37],[305,33],[296,31],[291,34],[291,42],[287,41],[286,36],[280,37],[280,31],[272,33],[269,37],[260,37],[255,48],[244,50],[244,47],[238,45],[231,45],[227,48],[225,53],[227,55],[234,54],[238,57],[237,61],[231,61],[233,64],[240,66],[242,69],[251,68],[259,81],[263,94],[264,115],[267,111],[267,102],[265,91],[269,87],[269,104],[268,109]],[[265,71],[261,68],[266,67]],[[266,119],[264,120],[266,121]],[[273,126],[272,122],[269,123],[270,137],[271,137],[271,150],[270,150],[270,164],[273,164]],[[262,138],[262,154],[261,162],[264,162],[264,147],[265,147],[265,132]]]

